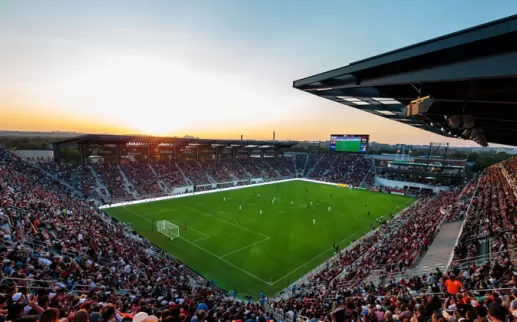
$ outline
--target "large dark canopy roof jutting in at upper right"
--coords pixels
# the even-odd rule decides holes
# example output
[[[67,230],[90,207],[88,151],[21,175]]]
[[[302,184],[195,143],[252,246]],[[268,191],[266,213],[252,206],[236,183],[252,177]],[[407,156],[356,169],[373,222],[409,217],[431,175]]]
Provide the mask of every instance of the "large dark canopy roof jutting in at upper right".
[[[296,80],[305,92],[481,145],[517,145],[517,15]]]

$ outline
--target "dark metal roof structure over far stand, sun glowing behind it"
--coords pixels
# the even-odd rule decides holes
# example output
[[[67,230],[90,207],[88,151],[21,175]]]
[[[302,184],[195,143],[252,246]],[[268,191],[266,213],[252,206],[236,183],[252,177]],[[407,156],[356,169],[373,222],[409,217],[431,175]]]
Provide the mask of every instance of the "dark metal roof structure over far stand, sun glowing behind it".
[[[98,135],[87,134],[52,144],[54,159],[59,162],[63,148],[77,148],[80,151],[81,164],[89,156],[100,154],[120,163],[128,154],[143,156],[145,162],[151,159],[179,160],[182,158],[201,159],[236,159],[249,158],[252,155],[277,157],[285,148],[296,145],[296,141],[257,141],[257,140],[216,140],[177,137],[156,137],[143,135]],[[132,153],[134,151],[135,153]]]

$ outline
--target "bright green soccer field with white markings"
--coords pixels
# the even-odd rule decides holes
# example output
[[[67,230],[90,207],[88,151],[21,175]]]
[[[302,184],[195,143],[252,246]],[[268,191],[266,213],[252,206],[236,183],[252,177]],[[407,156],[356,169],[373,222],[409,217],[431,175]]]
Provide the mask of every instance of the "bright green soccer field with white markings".
[[[216,285],[256,298],[261,290],[266,295],[282,290],[330,258],[333,244],[343,249],[377,218],[413,201],[290,181],[106,211]],[[157,220],[179,226],[180,238],[157,232]]]

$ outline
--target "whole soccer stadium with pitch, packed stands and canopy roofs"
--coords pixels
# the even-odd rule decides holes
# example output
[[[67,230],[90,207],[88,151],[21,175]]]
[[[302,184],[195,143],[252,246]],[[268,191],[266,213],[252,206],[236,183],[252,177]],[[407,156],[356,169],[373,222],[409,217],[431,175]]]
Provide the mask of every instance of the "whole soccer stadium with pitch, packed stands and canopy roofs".
[[[389,153],[334,130],[0,144],[0,319],[517,321],[517,157],[475,171],[448,142],[517,145],[516,39],[511,16],[285,84],[442,140]]]

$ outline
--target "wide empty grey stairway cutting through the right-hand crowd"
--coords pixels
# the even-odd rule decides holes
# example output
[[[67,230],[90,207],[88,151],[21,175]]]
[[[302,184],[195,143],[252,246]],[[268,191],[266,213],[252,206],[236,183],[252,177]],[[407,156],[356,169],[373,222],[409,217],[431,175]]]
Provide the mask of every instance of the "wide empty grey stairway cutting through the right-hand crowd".
[[[435,271],[436,268],[439,268],[442,272],[445,271],[459,237],[458,233],[462,223],[463,221],[459,220],[443,224],[427,252],[415,260],[406,276],[428,274],[430,271]]]

